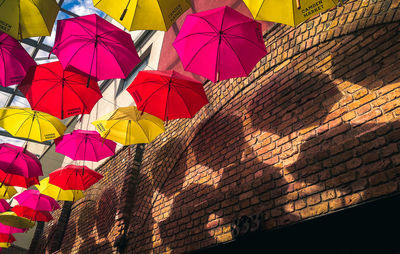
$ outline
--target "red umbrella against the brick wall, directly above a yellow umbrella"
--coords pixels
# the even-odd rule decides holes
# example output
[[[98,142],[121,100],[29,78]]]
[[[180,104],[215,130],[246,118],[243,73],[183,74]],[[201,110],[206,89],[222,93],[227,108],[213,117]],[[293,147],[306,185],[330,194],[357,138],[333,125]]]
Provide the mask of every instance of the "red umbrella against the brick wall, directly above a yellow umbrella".
[[[139,110],[164,121],[192,118],[208,103],[200,82],[175,71],[141,71],[127,91]]]

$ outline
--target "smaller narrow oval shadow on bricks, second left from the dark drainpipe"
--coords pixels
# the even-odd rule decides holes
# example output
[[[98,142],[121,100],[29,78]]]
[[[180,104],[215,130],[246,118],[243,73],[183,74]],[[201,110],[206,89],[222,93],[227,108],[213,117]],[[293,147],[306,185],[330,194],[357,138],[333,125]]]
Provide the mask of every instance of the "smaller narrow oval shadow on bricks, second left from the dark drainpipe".
[[[76,224],[77,232],[83,239],[89,238],[96,223],[96,202],[85,200],[80,209],[79,218]]]

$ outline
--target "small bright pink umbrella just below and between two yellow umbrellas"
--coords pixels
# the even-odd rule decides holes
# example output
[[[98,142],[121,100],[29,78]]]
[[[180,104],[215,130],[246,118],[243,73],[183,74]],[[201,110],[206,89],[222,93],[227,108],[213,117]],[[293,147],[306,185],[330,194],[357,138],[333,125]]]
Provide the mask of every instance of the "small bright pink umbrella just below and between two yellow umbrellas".
[[[73,160],[99,161],[115,154],[117,144],[96,131],[74,130],[55,140],[56,152]]]

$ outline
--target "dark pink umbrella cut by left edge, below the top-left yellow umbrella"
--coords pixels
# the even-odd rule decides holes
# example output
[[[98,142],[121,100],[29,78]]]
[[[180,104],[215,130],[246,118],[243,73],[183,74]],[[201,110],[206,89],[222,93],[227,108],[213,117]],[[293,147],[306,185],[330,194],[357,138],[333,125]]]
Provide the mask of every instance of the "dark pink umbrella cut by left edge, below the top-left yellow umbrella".
[[[0,32],[0,85],[19,84],[32,66],[36,66],[36,63],[21,44]]]

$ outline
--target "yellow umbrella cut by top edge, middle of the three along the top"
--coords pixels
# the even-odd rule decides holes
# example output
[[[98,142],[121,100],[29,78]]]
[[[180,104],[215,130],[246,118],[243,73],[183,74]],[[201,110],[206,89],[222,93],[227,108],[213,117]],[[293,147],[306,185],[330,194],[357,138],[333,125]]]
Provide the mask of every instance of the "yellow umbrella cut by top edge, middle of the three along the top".
[[[167,31],[190,8],[188,0],[93,0],[93,5],[129,31]]]

